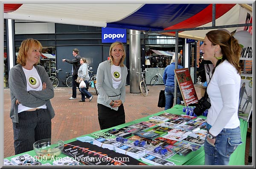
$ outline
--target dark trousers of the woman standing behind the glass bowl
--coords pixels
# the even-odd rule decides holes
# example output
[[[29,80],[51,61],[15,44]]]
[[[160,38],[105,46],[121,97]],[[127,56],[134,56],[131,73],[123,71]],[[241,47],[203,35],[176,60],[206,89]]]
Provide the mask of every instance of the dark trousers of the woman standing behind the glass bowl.
[[[47,109],[18,114],[19,123],[12,123],[15,155],[33,150],[33,143],[51,138],[52,122]]]

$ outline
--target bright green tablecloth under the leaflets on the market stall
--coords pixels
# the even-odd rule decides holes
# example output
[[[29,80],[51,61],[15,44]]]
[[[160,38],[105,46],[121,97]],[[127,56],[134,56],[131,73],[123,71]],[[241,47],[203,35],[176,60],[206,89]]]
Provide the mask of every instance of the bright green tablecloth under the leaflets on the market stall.
[[[184,106],[181,106],[181,105],[175,105],[172,109],[168,109],[166,111],[158,112],[158,113],[155,113],[153,115],[149,115],[147,117],[143,117],[143,118],[140,118],[140,119],[137,119],[137,120],[134,120],[134,121],[131,121],[131,122],[119,125],[119,126],[115,126],[115,127],[112,127],[112,128],[122,128],[122,127],[129,126],[131,124],[138,123],[138,122],[141,122],[141,121],[147,121],[149,117],[155,116],[155,115],[160,115],[164,112],[173,113],[173,114],[177,114],[177,115],[185,114],[182,111],[183,107]],[[199,116],[199,117],[206,118],[204,116]],[[247,134],[247,121],[244,121],[243,119],[240,119],[240,129],[241,129],[241,137],[242,137],[242,142],[243,143],[238,146],[238,148],[235,150],[235,152],[230,157],[229,165],[233,165],[233,166],[244,165],[245,143],[246,143],[246,134]],[[104,132],[104,131],[108,131],[108,130],[109,129],[105,129],[105,130],[101,130],[101,131]],[[99,131],[97,131],[97,132],[99,132]],[[88,134],[88,135],[90,136],[90,134]],[[82,136],[79,136],[79,137],[82,137]],[[75,140],[76,140],[76,138],[73,138],[73,139],[70,139],[70,140],[66,140],[64,142],[65,143],[70,143],[70,142],[75,141]],[[22,153],[22,154],[19,154],[19,155],[23,155],[23,154],[26,154],[26,153],[31,155],[31,156],[36,155],[34,150],[29,151],[29,152],[25,152],[25,153]],[[17,156],[17,155],[8,157],[6,159],[11,160],[11,158],[13,158],[15,156]],[[58,156],[58,158],[64,158],[66,156],[67,155],[64,155],[62,153],[61,155]],[[200,149],[198,149],[195,152],[190,152],[185,157],[180,156],[180,155],[174,155],[172,157],[172,159],[170,159],[170,161],[174,162],[176,165],[204,165],[204,147],[202,146]],[[52,161],[50,161],[50,160],[41,161],[41,163],[43,163],[43,164],[44,163],[52,164]]]

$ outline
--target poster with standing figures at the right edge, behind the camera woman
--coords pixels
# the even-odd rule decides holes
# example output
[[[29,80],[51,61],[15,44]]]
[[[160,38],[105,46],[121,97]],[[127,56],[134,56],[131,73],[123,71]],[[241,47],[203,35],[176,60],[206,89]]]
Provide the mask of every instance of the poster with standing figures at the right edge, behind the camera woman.
[[[253,75],[241,74],[241,84],[239,91],[238,116],[249,121],[250,114],[253,110]]]

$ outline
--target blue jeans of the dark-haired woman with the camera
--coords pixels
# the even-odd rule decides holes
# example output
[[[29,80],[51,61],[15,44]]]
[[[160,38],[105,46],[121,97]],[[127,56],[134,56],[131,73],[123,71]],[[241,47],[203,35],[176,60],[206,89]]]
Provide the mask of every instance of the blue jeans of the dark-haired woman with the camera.
[[[215,144],[204,142],[204,165],[228,165],[230,155],[242,144],[240,127],[223,129],[215,138]]]

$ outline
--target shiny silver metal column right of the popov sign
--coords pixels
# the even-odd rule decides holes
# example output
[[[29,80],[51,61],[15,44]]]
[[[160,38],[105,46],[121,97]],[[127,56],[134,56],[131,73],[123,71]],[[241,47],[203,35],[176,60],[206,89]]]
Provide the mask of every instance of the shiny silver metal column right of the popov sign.
[[[140,93],[140,31],[130,30],[130,93]]]

